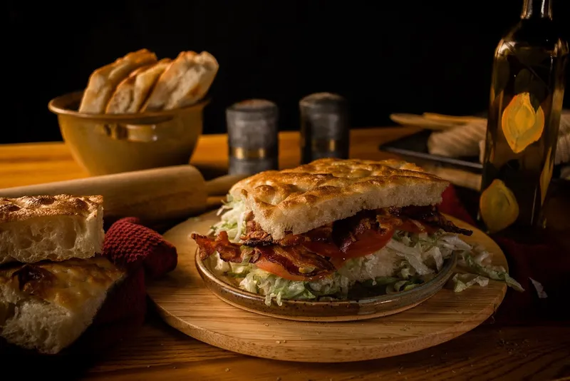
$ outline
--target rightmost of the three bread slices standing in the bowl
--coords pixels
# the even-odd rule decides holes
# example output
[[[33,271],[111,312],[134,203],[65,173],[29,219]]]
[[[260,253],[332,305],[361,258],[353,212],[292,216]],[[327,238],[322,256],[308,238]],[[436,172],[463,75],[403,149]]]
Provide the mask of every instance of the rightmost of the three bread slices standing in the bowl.
[[[218,63],[207,51],[182,51],[157,81],[141,111],[190,106],[207,93]]]

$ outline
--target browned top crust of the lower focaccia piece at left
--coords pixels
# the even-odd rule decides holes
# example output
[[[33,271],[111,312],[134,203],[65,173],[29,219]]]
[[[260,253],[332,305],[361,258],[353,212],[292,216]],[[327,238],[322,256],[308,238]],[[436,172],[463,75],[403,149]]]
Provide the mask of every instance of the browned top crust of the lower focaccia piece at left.
[[[0,303],[38,298],[79,312],[84,303],[106,295],[125,273],[105,257],[9,265],[0,269]]]

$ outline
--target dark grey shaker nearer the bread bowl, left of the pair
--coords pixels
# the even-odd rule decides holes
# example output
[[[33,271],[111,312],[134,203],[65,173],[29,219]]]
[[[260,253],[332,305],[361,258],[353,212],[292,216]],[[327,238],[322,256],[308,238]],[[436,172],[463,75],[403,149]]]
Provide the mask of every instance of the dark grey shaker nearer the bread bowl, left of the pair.
[[[248,99],[226,109],[230,175],[279,169],[278,118],[276,104],[265,99]]]

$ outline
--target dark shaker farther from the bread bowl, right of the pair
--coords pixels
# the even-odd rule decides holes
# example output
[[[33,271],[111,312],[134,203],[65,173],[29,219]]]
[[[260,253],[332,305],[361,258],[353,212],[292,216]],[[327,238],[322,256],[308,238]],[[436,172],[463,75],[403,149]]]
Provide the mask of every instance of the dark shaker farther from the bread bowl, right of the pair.
[[[318,158],[348,158],[350,127],[345,98],[313,93],[299,101],[301,163]]]

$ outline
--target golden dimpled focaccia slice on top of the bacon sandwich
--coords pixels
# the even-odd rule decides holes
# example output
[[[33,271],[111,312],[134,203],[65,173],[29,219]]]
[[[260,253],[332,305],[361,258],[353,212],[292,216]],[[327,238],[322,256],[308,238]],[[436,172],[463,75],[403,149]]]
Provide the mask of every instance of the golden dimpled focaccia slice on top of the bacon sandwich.
[[[355,215],[390,206],[435,205],[447,181],[405,161],[323,158],[284,171],[265,171],[236,183],[242,198],[274,240],[305,233]]]

